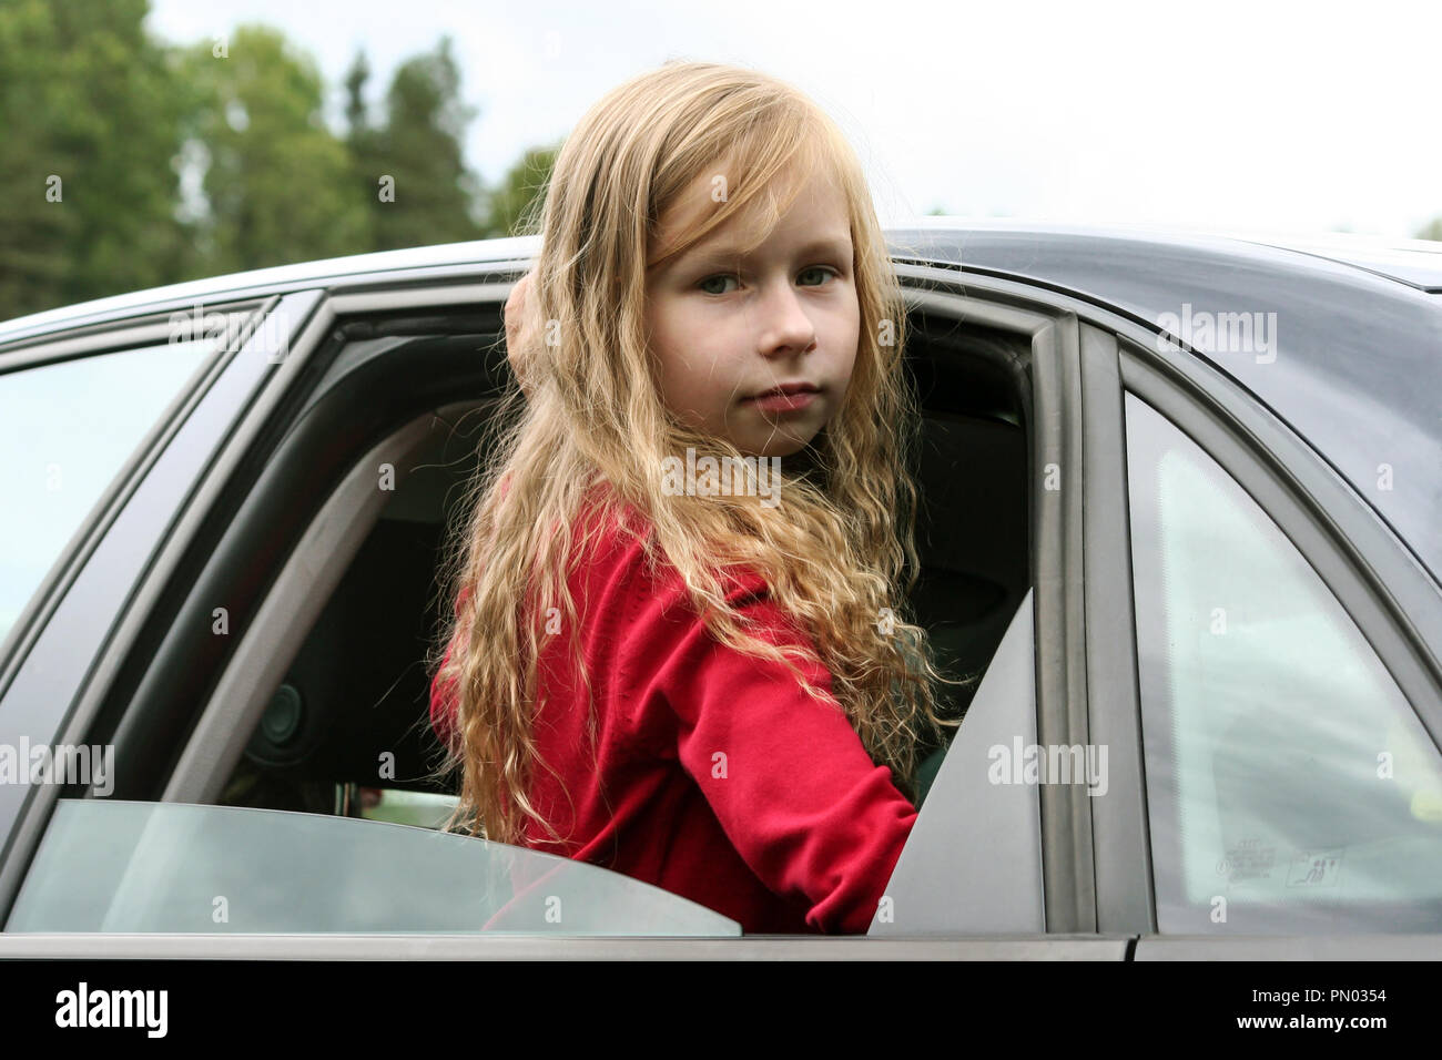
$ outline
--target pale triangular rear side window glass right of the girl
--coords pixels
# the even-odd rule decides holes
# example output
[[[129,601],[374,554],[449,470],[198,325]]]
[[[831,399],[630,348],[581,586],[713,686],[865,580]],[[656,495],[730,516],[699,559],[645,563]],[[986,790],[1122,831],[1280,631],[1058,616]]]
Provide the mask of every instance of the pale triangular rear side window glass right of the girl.
[[[1442,927],[1442,756],[1266,512],[1126,398],[1158,927]]]

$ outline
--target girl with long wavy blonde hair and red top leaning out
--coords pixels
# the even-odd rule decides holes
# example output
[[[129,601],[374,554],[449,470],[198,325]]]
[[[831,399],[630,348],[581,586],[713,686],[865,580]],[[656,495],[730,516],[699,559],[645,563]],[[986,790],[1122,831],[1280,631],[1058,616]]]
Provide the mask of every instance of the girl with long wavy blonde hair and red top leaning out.
[[[956,723],[906,622],[919,412],[857,157],[784,82],[669,62],[581,118],[541,229],[444,568],[447,829],[865,933]],[[688,450],[753,489],[676,489]]]

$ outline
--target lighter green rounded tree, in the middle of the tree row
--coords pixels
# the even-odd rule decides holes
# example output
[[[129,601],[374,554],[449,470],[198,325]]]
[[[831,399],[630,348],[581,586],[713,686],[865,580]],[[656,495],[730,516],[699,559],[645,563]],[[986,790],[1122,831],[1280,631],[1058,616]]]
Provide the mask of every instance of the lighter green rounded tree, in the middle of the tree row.
[[[195,87],[186,134],[205,169],[198,219],[211,273],[369,249],[365,208],[339,193],[346,144],[324,121],[314,59],[267,26],[185,49]]]

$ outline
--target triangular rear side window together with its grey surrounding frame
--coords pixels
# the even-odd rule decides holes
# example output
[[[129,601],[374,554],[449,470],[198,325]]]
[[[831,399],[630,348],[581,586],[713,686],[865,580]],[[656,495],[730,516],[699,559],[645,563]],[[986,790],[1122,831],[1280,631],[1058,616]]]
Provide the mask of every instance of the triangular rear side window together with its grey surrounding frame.
[[[1435,956],[1436,583],[1240,387],[1106,323],[1082,339],[1099,919],[1136,959]]]

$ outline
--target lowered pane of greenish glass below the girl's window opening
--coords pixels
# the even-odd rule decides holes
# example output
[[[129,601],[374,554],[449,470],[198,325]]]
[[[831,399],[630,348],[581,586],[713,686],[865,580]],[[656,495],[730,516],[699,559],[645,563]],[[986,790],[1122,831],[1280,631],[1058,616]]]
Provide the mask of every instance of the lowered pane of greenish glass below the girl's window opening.
[[[737,936],[584,861],[355,818],[61,799],[6,932]]]

